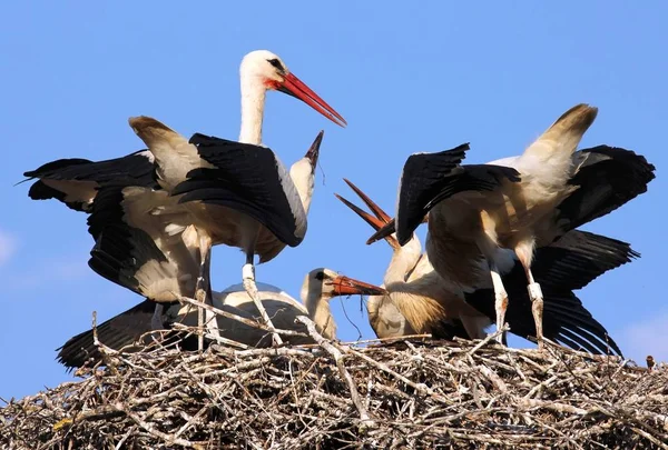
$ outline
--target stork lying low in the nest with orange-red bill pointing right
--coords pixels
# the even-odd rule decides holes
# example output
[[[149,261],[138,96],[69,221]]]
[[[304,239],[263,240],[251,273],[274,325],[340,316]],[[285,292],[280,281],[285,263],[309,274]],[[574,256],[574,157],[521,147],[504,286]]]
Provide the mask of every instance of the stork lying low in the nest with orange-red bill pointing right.
[[[327,339],[336,337],[336,322],[330,309],[330,300],[338,296],[352,294],[382,294],[384,289],[358,281],[330,269],[318,268],[306,274],[302,284],[302,302],[272,284],[257,283],[259,297],[265,309],[272,314],[274,323],[283,330],[295,330],[306,333],[306,329],[295,323],[298,316],[310,317],[316,324],[316,329]],[[249,300],[243,284],[234,284],[222,292],[213,292],[214,307],[235,313],[244,318],[255,318],[256,307]],[[155,330],[155,303],[145,300],[134,308],[107,320],[97,327],[98,339],[101,343],[114,349],[120,349],[141,342],[140,338],[147,332]],[[165,304],[158,318],[163,327],[170,329],[174,323],[191,326],[195,322],[193,311],[187,307],[173,302]],[[218,316],[218,329],[224,338],[252,347],[268,347],[271,339],[257,328],[246,326],[234,319]],[[194,342],[184,333],[176,333],[167,339],[167,342],[176,341],[181,348],[194,350]],[[284,339],[291,344],[314,343],[313,339],[299,336],[285,336]],[[85,331],[70,338],[58,353],[58,361],[68,368],[79,368],[86,362],[100,360],[98,348],[94,343],[92,330]]]

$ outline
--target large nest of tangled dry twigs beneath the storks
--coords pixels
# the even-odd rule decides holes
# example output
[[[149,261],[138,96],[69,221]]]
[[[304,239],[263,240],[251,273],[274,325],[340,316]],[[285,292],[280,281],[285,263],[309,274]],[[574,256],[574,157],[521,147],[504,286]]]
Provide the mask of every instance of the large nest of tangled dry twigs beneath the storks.
[[[491,339],[362,348],[307,326],[317,346],[101,346],[84,380],[4,406],[0,447],[668,449],[665,364]]]

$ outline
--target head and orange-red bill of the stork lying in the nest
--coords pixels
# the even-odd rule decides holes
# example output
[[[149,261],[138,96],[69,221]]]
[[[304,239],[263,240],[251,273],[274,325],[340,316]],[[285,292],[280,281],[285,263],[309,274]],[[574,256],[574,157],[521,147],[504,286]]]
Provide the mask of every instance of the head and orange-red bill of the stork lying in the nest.
[[[383,296],[386,292],[377,286],[344,277],[330,269],[318,268],[306,274],[302,287],[302,299],[312,297],[331,300],[338,296]]]

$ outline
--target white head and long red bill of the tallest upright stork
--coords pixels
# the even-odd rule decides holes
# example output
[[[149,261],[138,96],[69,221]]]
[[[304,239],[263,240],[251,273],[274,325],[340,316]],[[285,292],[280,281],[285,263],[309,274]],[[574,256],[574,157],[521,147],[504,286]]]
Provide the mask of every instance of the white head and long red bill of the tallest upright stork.
[[[321,99],[311,88],[287,69],[277,54],[268,50],[255,50],[246,54],[240,67],[242,82],[248,80],[263,86],[266,90],[276,90],[295,97],[317,112],[345,127],[345,119]]]

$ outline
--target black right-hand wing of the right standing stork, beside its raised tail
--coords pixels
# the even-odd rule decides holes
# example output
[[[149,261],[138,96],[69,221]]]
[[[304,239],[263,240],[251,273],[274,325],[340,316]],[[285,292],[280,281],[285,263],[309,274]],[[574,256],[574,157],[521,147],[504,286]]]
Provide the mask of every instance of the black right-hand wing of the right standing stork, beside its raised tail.
[[[572,230],[606,216],[647,191],[655,167],[633,151],[599,146],[572,157],[578,172],[570,184],[579,186],[559,204],[559,220]]]

